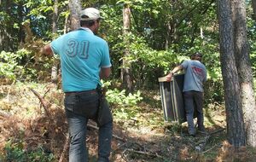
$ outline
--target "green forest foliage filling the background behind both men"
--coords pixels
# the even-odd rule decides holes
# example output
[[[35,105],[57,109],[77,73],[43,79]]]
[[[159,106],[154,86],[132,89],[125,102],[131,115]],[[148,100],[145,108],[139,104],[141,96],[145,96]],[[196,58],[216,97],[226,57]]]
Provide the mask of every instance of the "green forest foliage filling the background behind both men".
[[[9,26],[13,27],[8,31],[12,44],[5,45],[7,49],[19,49],[18,44],[25,39],[22,22],[29,21],[33,32],[33,38],[52,40],[63,33],[65,19],[69,15],[67,9],[68,1],[60,1],[58,5],[58,33],[52,34],[53,1],[44,0],[16,0],[15,3],[3,1],[0,7],[0,32],[5,33]],[[197,0],[90,0],[81,2],[82,8],[96,7],[102,12],[104,19],[101,21],[99,35],[106,39],[110,47],[110,55],[113,64],[113,79],[120,78],[120,70],[123,67],[131,67],[132,78],[135,88],[158,88],[158,79],[166,75],[177,64],[195,51],[204,54],[203,63],[207,67],[208,78],[211,80],[209,87],[220,87],[215,82],[222,82],[222,75],[219,61],[218,47],[218,19],[215,1]],[[123,35],[123,13],[124,4],[131,8],[131,29],[130,33]],[[20,8],[22,6],[22,8]],[[7,8],[9,7],[7,12]],[[29,11],[29,12],[28,12]],[[255,77],[255,20],[252,19],[253,9],[247,4],[247,31],[251,47],[251,58],[253,65],[253,76]],[[21,37],[22,36],[22,37]],[[35,36],[35,37],[34,37]],[[128,40],[128,42],[125,41]],[[11,46],[14,45],[15,48]],[[124,56],[125,50],[130,55]],[[34,49],[26,49],[31,54],[23,55],[21,59],[14,55],[1,55],[1,76],[17,78],[17,74],[26,79],[41,79],[49,75],[51,67],[50,60],[41,57],[34,60]],[[6,50],[9,51],[9,50]],[[7,58],[9,57],[9,58]],[[15,58],[15,59],[12,59]],[[125,59],[126,65],[121,61]],[[8,60],[8,61],[7,61]],[[33,64],[37,66],[33,68]],[[20,73],[18,73],[20,72]],[[41,76],[41,77],[38,77]],[[222,95],[219,90],[210,90]],[[212,97],[212,95],[207,95]],[[213,97],[215,98],[215,97]],[[211,98],[212,100],[212,98]]]

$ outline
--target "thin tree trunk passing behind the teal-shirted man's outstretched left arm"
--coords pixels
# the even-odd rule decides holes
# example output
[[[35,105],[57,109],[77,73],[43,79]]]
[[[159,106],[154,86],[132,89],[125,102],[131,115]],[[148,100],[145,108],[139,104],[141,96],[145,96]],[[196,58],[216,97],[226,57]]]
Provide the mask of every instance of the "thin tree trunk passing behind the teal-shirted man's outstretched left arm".
[[[52,32],[55,34],[58,30],[57,28],[57,19],[58,19],[58,0],[55,0],[54,4],[54,12],[52,16]],[[54,64],[51,68],[51,82],[57,84],[58,81],[58,68],[60,65],[60,61],[55,59]]]

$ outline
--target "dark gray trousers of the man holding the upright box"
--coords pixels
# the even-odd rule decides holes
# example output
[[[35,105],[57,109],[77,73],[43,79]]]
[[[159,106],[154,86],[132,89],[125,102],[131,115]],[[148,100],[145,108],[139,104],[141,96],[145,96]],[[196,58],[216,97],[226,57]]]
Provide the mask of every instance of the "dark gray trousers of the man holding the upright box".
[[[203,116],[203,93],[199,91],[185,91],[183,92],[186,118],[189,125],[189,134],[195,133],[194,126],[194,113],[197,117],[198,129],[204,129],[204,116]]]

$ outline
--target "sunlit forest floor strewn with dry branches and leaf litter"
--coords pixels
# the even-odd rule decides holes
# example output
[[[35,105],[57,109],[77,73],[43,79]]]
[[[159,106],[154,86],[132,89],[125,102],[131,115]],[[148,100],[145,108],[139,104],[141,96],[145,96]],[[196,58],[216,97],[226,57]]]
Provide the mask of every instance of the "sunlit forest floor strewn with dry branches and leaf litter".
[[[2,156],[7,154],[6,146],[11,141],[12,147],[19,145],[25,152],[39,146],[46,155],[54,154],[52,161],[67,161],[68,136],[63,94],[61,90],[52,89],[38,84],[0,87]],[[32,90],[44,97],[46,109]],[[137,119],[114,119],[111,161],[256,161],[254,149],[241,148],[237,152],[226,142],[222,105],[215,103],[206,106],[208,133],[198,133],[193,137],[188,135],[185,123],[163,121],[157,91],[144,92],[143,97],[145,99],[138,105],[140,115]],[[86,142],[91,162],[96,161],[97,157],[97,131],[96,124],[90,121]]]

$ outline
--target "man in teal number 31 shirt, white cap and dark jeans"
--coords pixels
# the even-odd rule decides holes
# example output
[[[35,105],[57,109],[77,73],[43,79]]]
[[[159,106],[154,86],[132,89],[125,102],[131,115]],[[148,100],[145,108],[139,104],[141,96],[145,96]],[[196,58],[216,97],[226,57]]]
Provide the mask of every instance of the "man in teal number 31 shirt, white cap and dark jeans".
[[[100,26],[98,9],[80,14],[81,27],[44,46],[44,55],[60,55],[62,89],[70,133],[70,162],[88,161],[86,125],[93,119],[99,126],[98,161],[109,161],[113,129],[112,114],[102,96],[100,79],[111,72],[108,43],[95,35]]]

